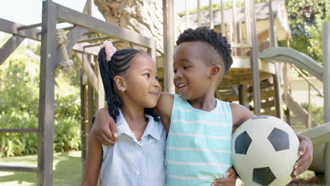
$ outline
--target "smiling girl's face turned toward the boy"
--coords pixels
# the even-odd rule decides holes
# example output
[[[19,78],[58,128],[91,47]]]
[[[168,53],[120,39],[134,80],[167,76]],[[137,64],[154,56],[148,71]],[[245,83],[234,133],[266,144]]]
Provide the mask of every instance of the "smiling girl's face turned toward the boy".
[[[146,54],[137,54],[123,75],[126,83],[126,99],[144,108],[157,105],[161,86],[157,80],[156,63]]]

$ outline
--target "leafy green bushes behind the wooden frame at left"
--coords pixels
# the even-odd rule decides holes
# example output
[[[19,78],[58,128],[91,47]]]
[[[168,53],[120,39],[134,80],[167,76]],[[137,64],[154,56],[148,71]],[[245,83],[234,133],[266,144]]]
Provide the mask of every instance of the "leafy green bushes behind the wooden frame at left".
[[[1,45],[0,45],[1,46]],[[18,47],[0,66],[0,128],[37,128],[39,50]],[[54,151],[80,149],[79,68],[68,75],[56,70]],[[37,153],[37,133],[0,133],[0,157]]]

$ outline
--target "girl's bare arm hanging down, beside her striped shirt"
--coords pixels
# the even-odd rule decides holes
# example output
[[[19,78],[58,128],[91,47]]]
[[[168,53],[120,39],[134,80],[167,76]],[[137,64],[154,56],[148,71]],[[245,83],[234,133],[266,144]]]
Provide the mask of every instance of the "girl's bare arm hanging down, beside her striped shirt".
[[[97,185],[99,170],[102,165],[102,145],[96,140],[94,132],[90,132],[88,138],[88,152],[85,165],[85,174],[82,178],[81,186]]]

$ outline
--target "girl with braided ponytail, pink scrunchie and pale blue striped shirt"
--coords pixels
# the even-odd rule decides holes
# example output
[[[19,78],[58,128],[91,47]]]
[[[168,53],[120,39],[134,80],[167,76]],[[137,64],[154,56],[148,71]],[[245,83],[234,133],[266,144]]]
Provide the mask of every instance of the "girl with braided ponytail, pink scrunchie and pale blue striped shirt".
[[[97,185],[101,168],[103,185],[164,185],[166,130],[152,109],[161,92],[156,65],[142,51],[116,51],[109,41],[101,47],[99,68],[118,142],[104,146],[90,133],[81,185]]]

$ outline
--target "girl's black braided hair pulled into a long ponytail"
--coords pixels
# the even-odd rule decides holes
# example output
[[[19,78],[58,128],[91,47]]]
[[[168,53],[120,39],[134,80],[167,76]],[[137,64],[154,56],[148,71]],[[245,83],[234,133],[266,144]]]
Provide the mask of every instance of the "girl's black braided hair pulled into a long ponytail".
[[[119,108],[121,107],[121,101],[118,97],[118,87],[114,80],[114,77],[119,73],[125,72],[130,66],[128,63],[136,54],[142,53],[142,51],[136,49],[121,49],[116,51],[110,61],[106,61],[106,52],[102,48],[99,51],[98,61],[99,70],[102,77],[104,86],[104,92],[106,93],[106,103],[108,104],[109,115],[117,120],[119,114]],[[158,115],[154,109],[145,109],[145,113],[154,117],[154,120],[158,121]]]

